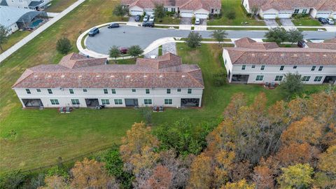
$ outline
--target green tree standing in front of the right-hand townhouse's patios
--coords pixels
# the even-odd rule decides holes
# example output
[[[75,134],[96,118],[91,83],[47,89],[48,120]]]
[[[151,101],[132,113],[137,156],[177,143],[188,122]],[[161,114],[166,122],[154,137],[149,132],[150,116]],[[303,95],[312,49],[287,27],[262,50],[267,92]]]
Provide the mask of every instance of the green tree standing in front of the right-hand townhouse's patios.
[[[281,81],[280,87],[287,97],[301,94],[303,91],[301,75],[298,73],[286,73],[285,78]]]

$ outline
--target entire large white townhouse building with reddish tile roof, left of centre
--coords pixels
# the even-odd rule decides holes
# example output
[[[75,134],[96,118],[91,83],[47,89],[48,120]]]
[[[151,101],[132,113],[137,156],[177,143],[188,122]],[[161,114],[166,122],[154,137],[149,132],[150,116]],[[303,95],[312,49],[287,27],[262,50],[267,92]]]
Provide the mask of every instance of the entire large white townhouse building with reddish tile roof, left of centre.
[[[204,83],[197,64],[182,64],[171,53],[138,58],[137,64],[106,62],[71,53],[59,64],[27,69],[13,90],[24,108],[201,106]]]

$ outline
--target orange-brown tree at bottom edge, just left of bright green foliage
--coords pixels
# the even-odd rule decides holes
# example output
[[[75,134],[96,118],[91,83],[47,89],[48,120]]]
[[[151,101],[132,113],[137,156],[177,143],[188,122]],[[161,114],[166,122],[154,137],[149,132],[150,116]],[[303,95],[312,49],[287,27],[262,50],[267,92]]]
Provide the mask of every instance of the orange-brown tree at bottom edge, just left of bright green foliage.
[[[85,158],[76,162],[71,169],[73,188],[108,188],[113,186],[114,178],[107,175],[104,163]]]

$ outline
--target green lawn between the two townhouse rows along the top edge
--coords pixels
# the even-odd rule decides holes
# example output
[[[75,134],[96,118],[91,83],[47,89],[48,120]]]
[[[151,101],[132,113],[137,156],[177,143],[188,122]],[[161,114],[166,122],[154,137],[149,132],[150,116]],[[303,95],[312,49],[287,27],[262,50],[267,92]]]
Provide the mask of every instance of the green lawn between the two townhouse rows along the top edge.
[[[230,11],[236,13],[236,18],[234,20],[229,20],[226,18],[226,14]],[[249,18],[246,16],[246,10],[241,6],[241,0],[222,0],[222,17],[216,18],[214,20],[209,20],[207,25],[235,25],[241,26],[245,22],[248,22],[244,26],[264,26],[265,22],[262,20],[258,21],[254,18]]]

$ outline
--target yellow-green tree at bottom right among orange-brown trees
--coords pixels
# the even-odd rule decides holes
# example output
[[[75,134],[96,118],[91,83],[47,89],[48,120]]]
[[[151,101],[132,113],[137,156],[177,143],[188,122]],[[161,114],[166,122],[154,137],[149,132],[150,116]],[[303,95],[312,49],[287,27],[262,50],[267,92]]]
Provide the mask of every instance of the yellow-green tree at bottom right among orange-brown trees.
[[[281,188],[309,188],[313,181],[311,175],[314,169],[308,164],[297,164],[281,170],[283,174],[278,178]]]

